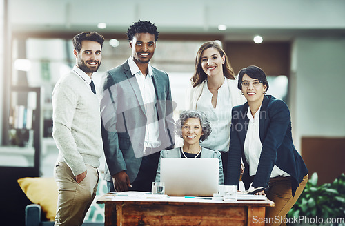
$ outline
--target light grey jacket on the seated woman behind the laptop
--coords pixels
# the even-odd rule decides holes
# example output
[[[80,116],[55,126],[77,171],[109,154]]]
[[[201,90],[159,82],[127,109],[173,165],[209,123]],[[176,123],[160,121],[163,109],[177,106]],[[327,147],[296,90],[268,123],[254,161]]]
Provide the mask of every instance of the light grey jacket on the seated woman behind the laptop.
[[[155,181],[161,181],[161,158],[181,158],[181,147],[172,150],[162,150],[159,157],[158,169]],[[201,147],[200,158],[218,158],[219,161],[219,185],[224,185],[223,163],[221,162],[221,154],[217,150],[210,150],[206,147]]]

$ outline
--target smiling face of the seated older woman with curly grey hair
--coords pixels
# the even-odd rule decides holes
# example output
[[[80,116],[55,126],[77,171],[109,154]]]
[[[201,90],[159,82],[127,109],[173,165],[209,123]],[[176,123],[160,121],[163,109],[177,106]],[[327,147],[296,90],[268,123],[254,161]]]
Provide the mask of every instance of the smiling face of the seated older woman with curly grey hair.
[[[182,125],[182,138],[188,145],[199,145],[200,137],[204,135],[200,125],[200,119],[188,118]]]

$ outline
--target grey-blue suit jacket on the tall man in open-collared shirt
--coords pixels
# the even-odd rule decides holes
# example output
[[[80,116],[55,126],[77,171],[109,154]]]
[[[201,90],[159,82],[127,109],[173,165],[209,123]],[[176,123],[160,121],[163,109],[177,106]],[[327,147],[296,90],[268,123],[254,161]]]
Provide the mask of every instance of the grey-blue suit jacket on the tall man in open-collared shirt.
[[[160,151],[174,144],[173,107],[168,74],[153,67],[152,72],[161,141],[156,151]],[[103,74],[101,84],[98,93],[106,156],[104,178],[112,181],[112,175],[126,170],[132,182],[141,165],[147,121],[139,85],[127,61]]]

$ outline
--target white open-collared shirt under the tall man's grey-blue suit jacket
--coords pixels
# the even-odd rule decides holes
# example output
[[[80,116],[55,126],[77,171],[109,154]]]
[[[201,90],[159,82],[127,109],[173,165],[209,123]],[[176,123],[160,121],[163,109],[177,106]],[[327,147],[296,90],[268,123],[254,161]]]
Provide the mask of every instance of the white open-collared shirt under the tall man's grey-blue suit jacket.
[[[159,137],[159,125],[157,116],[157,106],[156,106],[156,92],[155,86],[152,81],[152,68],[150,63],[148,64],[148,74],[144,75],[141,73],[132,56],[128,59],[128,65],[130,66],[130,72],[137,79],[141,97],[144,102],[144,108],[146,113],[146,132],[145,132],[145,142],[144,147],[159,147],[161,142],[158,140]]]

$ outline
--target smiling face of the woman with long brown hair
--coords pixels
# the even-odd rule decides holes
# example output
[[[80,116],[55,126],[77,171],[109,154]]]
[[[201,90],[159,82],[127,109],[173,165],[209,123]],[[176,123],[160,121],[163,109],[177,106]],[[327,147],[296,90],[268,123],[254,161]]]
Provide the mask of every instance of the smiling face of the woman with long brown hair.
[[[225,56],[221,56],[215,48],[208,48],[201,54],[201,68],[208,76],[223,75]]]

